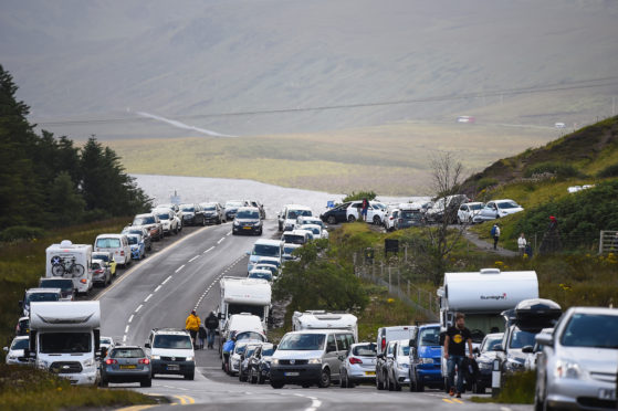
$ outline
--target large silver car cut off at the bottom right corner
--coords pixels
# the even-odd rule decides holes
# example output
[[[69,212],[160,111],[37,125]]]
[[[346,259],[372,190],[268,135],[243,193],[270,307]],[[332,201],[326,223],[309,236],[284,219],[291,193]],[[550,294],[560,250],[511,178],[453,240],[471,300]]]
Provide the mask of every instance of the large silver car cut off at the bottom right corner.
[[[572,307],[536,341],[536,410],[616,409],[618,309]]]

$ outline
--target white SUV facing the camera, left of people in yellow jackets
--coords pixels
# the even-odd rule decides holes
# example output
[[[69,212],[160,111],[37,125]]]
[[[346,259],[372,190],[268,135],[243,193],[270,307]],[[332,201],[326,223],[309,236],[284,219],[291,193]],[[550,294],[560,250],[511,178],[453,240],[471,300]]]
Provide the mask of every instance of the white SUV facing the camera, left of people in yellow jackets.
[[[188,331],[177,328],[154,328],[144,344],[156,373],[181,375],[192,380],[196,372],[196,354]]]

